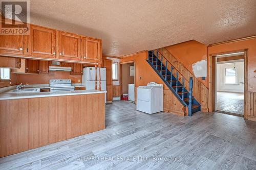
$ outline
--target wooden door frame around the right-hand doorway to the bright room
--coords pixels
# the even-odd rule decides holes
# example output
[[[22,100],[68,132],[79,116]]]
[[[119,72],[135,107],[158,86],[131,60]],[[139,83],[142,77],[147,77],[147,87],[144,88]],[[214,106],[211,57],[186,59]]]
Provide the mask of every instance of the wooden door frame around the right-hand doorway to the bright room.
[[[247,97],[247,89],[248,89],[248,49],[241,49],[236,51],[226,51],[221,53],[214,53],[209,54],[208,56],[208,108],[209,112],[215,111],[215,102],[216,102],[216,56],[222,54],[229,54],[229,53],[237,53],[237,52],[244,52],[244,118],[246,119],[246,97]]]

